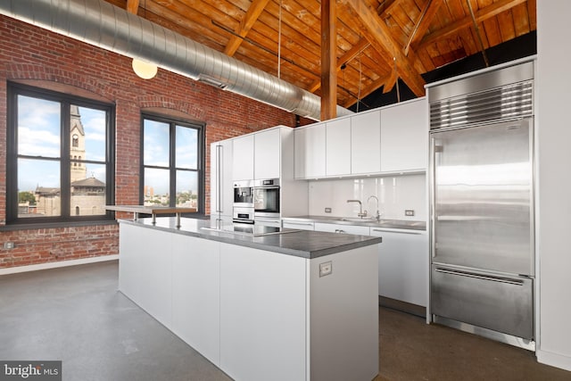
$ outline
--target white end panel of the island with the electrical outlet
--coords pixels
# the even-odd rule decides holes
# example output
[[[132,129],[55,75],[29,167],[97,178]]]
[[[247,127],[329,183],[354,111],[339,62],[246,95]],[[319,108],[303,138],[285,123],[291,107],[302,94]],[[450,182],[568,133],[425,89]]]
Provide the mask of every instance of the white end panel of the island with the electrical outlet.
[[[378,244],[310,260],[311,381],[377,377],[377,261]]]

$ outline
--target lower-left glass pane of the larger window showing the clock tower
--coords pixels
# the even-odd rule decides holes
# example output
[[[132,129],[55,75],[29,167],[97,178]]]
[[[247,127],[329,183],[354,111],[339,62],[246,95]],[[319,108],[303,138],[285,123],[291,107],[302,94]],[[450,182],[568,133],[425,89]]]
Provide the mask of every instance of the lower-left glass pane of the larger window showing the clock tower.
[[[60,216],[60,189],[60,162],[18,160],[18,217]]]

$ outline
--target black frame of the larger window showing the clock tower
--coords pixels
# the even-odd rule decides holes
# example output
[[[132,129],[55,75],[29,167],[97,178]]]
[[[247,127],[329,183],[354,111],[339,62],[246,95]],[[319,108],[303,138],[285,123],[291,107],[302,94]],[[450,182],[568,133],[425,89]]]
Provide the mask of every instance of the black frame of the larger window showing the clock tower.
[[[24,217],[18,215],[18,96],[29,96],[60,104],[60,198],[61,215]],[[115,104],[103,103],[86,97],[70,95],[45,88],[31,87],[20,83],[7,83],[6,103],[6,226],[10,225],[85,225],[89,222],[114,220],[112,211],[105,214],[77,216],[71,211],[70,169],[70,106],[87,107],[105,112],[105,202],[115,203]],[[66,117],[66,115],[68,117]],[[67,150],[67,151],[66,151]],[[24,155],[23,157],[38,156]],[[82,160],[84,163],[101,164],[98,161]]]

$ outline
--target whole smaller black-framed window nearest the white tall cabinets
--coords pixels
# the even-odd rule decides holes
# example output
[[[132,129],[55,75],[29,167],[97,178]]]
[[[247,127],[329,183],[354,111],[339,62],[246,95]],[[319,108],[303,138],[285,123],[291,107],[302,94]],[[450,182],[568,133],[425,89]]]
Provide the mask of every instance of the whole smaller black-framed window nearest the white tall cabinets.
[[[141,202],[204,213],[203,126],[143,115]]]

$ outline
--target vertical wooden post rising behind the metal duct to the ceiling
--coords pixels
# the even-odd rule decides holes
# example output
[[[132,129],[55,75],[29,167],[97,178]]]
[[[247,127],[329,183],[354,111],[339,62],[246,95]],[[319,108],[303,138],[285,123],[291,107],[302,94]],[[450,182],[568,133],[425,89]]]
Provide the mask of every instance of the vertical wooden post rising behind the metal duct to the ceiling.
[[[336,23],[335,0],[321,0],[321,120],[337,116]]]

